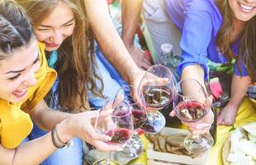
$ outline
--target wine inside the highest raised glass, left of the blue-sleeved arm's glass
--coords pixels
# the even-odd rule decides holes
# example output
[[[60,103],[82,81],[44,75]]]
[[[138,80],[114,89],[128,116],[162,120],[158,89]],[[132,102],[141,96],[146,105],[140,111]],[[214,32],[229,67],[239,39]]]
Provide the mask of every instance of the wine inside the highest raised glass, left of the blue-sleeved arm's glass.
[[[172,91],[166,86],[145,86],[146,105],[152,108],[163,108],[172,101]]]

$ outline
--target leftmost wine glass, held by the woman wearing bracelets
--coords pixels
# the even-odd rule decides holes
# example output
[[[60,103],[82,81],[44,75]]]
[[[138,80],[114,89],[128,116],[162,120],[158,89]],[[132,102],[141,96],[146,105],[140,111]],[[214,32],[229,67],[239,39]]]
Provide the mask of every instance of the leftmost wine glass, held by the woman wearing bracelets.
[[[107,144],[124,147],[133,134],[133,125],[130,105],[122,99],[114,99],[106,101],[99,111],[95,131],[111,137],[111,140],[106,141]],[[110,158],[111,153],[108,153],[107,159],[98,160],[93,164],[110,165]]]

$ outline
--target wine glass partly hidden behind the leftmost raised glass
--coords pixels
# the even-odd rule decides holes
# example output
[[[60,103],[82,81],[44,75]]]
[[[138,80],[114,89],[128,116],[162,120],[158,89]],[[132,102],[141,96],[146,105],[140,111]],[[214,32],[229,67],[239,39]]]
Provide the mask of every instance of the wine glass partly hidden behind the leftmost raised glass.
[[[133,99],[133,96],[135,96],[135,99]],[[141,125],[144,125],[147,119],[145,99],[138,87],[132,85],[123,86],[116,92],[115,98],[124,99],[129,103],[135,130],[139,129]],[[134,134],[127,142],[126,147],[122,151],[116,152],[116,154],[125,158],[133,159],[137,158],[142,152],[143,143],[141,142],[139,136]]]

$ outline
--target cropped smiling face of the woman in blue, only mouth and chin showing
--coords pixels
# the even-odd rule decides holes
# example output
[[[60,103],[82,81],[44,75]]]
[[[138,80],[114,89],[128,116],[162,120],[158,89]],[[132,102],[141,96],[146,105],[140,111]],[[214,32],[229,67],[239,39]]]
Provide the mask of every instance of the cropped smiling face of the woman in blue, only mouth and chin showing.
[[[256,15],[256,0],[228,0],[236,19],[249,21]]]

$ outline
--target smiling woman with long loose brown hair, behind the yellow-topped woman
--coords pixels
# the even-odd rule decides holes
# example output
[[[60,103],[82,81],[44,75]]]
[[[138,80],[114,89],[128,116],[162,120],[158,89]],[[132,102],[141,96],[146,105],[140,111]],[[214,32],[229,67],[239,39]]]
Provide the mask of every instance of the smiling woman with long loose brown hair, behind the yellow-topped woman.
[[[25,8],[34,26],[37,40],[45,43],[46,58],[58,78],[45,97],[59,111],[77,113],[89,110],[88,92],[102,96],[96,87],[94,37],[88,25],[85,4],[81,0],[17,0]],[[36,125],[30,134],[35,139],[46,134]],[[82,140],[61,148],[42,164],[82,164]]]

